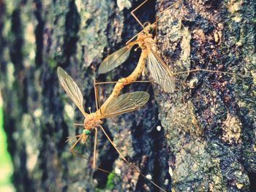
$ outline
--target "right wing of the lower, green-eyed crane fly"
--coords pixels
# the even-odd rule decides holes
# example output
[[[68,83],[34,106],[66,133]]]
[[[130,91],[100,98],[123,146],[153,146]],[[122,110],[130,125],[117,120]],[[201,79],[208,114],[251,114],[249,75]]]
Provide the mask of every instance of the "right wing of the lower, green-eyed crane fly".
[[[124,93],[118,96],[106,106],[103,115],[99,117],[108,118],[115,115],[121,115],[126,112],[132,112],[143,107],[149,99],[149,94],[145,91],[135,91],[132,93]]]

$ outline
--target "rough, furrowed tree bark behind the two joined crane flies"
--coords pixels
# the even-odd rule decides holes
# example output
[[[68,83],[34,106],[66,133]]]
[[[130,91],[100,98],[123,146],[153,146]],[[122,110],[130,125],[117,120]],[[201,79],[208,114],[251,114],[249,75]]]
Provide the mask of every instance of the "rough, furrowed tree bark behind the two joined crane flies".
[[[4,128],[18,191],[159,191],[118,158],[101,131],[97,165],[121,176],[91,168],[94,137],[76,147],[87,159],[69,153],[65,140],[80,133],[72,123],[83,118],[56,75],[57,66],[67,70],[94,111],[94,77],[118,80],[138,61],[139,50],[97,75],[102,59],[140,30],[129,13],[140,2],[0,1]],[[154,22],[170,4],[149,1],[137,15]],[[159,55],[175,72],[199,67],[252,78],[177,75],[173,94],[137,83],[124,93],[148,91],[146,107],[103,124],[129,161],[166,191],[255,191],[255,8],[255,1],[181,1],[162,15],[158,36]],[[100,100],[110,91],[101,86]]]

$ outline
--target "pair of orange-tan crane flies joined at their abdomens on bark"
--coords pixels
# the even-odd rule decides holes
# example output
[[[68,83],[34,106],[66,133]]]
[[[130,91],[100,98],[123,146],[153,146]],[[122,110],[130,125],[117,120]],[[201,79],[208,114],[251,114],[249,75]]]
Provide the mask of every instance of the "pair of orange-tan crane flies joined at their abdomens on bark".
[[[148,0],[146,0],[148,1]],[[146,3],[144,1],[142,4],[140,4],[136,9],[132,11],[132,16],[135,17],[135,19],[140,23],[140,20],[136,18],[133,12],[137,10],[139,7],[141,7],[143,4]],[[175,4],[171,5],[170,7],[173,7],[174,5],[180,3],[180,1],[177,1]],[[167,9],[170,9],[170,7],[167,7]],[[162,12],[165,12],[167,9],[165,9]],[[162,12],[159,12],[158,15],[162,14]],[[160,18],[161,19],[161,18]],[[144,26],[140,23],[140,26],[143,27],[143,30],[140,31],[135,37],[137,39],[132,42],[132,39],[135,39],[135,37],[132,37],[127,42],[127,45],[125,47],[122,47],[120,50],[117,50],[115,53],[112,53],[107,58],[105,58],[104,61],[102,61],[102,64],[99,66],[99,74],[104,74],[107,72],[110,72],[111,70],[115,69],[117,66],[120,66],[124,63],[124,61],[127,60],[129,57],[129,53],[132,50],[132,47],[135,45],[138,45],[141,48],[141,55],[140,59],[138,61],[138,65],[136,66],[134,72],[132,74],[129,74],[128,77],[121,78],[116,82],[115,87],[113,88],[112,93],[106,99],[104,104],[102,106],[99,106],[98,96],[97,96],[97,84],[101,83],[95,83],[94,82],[94,91],[95,91],[95,101],[97,106],[97,111],[92,112],[90,114],[86,113],[83,109],[83,95],[78,88],[78,85],[74,80],[72,80],[72,77],[67,74],[67,72],[64,71],[61,67],[58,67],[57,74],[59,77],[59,81],[61,82],[62,87],[69,95],[70,99],[75,103],[75,105],[78,107],[80,112],[82,112],[85,120],[83,124],[79,124],[83,126],[83,132],[79,134],[77,141],[70,147],[70,150],[73,151],[75,145],[78,144],[78,142],[85,143],[86,139],[89,137],[91,129],[95,129],[95,139],[94,139],[94,161],[93,166],[95,168],[95,161],[96,161],[96,145],[97,145],[97,128],[101,128],[105,136],[108,138],[110,143],[115,147],[118,154],[121,156],[121,158],[127,162],[129,166],[132,166],[129,164],[126,158],[124,158],[124,155],[120,153],[120,151],[117,149],[116,145],[112,142],[110,137],[108,137],[108,134],[106,134],[104,128],[102,128],[102,119],[113,117],[115,115],[121,115],[126,112],[132,112],[135,110],[138,110],[140,107],[143,107],[143,105],[146,104],[146,102],[149,99],[149,94],[145,91],[136,91],[133,93],[124,93],[121,96],[118,96],[118,94],[121,92],[121,89],[124,88],[124,85],[128,85],[132,82],[136,82],[138,80],[138,77],[143,72],[143,69],[145,68],[145,64],[147,61],[149,72],[151,72],[151,77],[153,77],[154,82],[160,85],[160,87],[167,93],[173,93],[175,90],[175,80],[173,76],[175,74],[181,74],[181,73],[187,73],[187,72],[172,72],[165,64],[164,61],[157,55],[156,49],[157,49],[157,43],[156,40],[153,39],[153,35],[150,34],[150,32],[154,29],[156,29],[157,34],[157,23],[158,19],[154,23],[146,23],[147,26]],[[230,72],[219,72],[219,71],[213,71],[213,70],[207,70],[207,69],[193,69],[189,72],[197,72],[197,71],[205,71],[205,72],[217,72],[217,73],[224,73],[224,74],[235,74]],[[240,74],[235,74],[240,75]],[[244,75],[241,75],[244,76]],[[145,82],[145,81],[144,81]],[[148,82],[148,81],[147,81]],[[108,82],[102,82],[102,83],[108,83]],[[99,108],[98,108],[99,106]],[[133,168],[138,171],[138,169],[133,166]],[[138,171],[139,172],[139,171]],[[139,172],[143,177],[146,178],[145,175],[143,175],[141,172]],[[155,184],[153,181],[149,180],[152,184],[157,186],[162,191],[162,188],[160,188],[157,184]]]

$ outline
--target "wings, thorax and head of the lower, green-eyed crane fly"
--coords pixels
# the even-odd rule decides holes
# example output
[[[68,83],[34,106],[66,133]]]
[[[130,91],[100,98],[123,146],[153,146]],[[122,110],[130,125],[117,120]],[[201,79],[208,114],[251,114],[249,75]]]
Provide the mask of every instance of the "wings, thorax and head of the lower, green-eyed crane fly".
[[[62,88],[64,88],[69,98],[75,103],[85,118],[83,123],[83,133],[78,135],[79,139],[74,145],[72,145],[70,148],[71,151],[80,140],[82,143],[86,142],[91,128],[101,127],[100,125],[102,124],[102,119],[138,110],[140,107],[143,107],[143,105],[145,105],[149,99],[149,94],[145,91],[124,93],[121,96],[118,96],[116,99],[110,101],[104,110],[101,109],[97,110],[97,112],[88,114],[83,109],[83,95],[76,82],[61,67],[58,67],[57,74]]]

